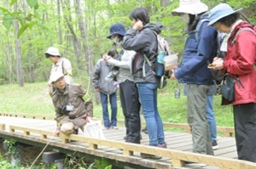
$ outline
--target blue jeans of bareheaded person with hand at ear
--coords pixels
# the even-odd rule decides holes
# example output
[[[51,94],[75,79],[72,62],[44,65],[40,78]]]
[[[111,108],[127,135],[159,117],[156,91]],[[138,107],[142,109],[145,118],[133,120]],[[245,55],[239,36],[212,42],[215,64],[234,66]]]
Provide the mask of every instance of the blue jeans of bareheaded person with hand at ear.
[[[137,83],[138,93],[143,105],[144,118],[147,124],[149,145],[165,144],[163,122],[157,110],[157,83]]]

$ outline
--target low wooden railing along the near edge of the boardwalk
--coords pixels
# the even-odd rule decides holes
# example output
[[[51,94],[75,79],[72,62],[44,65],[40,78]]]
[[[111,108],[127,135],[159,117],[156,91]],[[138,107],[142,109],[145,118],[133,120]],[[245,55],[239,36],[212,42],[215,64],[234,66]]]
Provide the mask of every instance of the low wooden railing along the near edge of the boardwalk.
[[[0,125],[1,130],[5,130],[4,124]],[[9,132],[15,132],[16,130],[22,131],[24,135],[30,135],[32,133],[37,133],[41,138],[47,138],[48,136],[53,137],[52,132],[43,131],[34,128],[28,127],[17,127],[17,126],[9,126]],[[195,153],[184,152],[180,150],[174,149],[162,149],[142,144],[129,144],[117,141],[96,139],[96,138],[86,138],[79,135],[65,135],[58,134],[58,138],[61,138],[61,142],[66,144],[69,139],[76,140],[79,142],[84,142],[89,144],[89,149],[97,149],[98,145],[113,147],[117,149],[123,149],[123,155],[131,156],[134,152],[147,153],[150,155],[160,155],[166,158],[172,159],[172,164],[170,164],[170,168],[172,166],[184,166],[184,161],[194,161],[198,163],[207,164],[210,166],[218,166],[219,169],[256,169],[256,164],[248,161],[240,161],[234,160],[224,157],[217,157],[212,155],[201,155]],[[24,137],[23,137],[24,138]],[[35,138],[38,140],[38,138]],[[93,154],[93,151],[88,151]]]

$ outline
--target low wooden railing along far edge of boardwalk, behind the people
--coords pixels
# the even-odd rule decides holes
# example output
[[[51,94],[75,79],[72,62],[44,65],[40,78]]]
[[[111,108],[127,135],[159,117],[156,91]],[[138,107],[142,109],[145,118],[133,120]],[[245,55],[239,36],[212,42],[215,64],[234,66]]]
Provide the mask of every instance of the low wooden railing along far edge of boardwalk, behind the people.
[[[19,114],[19,113],[2,113],[0,115],[3,116],[14,116],[14,117],[23,117],[23,118],[33,118],[33,119],[49,119],[55,120],[55,115],[32,115],[32,114]],[[93,118],[96,121],[103,121],[102,119]],[[119,124],[125,124],[125,121],[118,120]],[[143,125],[146,125],[145,121],[143,121]],[[163,123],[164,127],[170,128],[183,128],[186,132],[191,132],[191,129],[188,124],[181,123]],[[234,127],[217,127],[217,132],[224,132],[224,137],[232,137],[233,133],[235,133]]]

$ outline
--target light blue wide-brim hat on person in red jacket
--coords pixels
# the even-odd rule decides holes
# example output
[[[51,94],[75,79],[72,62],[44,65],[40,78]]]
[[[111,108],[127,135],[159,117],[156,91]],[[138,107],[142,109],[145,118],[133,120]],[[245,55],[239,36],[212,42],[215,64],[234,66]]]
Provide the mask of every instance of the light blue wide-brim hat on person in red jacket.
[[[233,8],[230,7],[227,3],[220,3],[216,7],[212,8],[211,11],[208,12],[208,17],[209,17],[209,24],[207,25],[213,25],[215,24],[218,20],[230,15],[230,14],[235,14],[241,11],[242,8],[239,8],[237,10],[233,10]]]

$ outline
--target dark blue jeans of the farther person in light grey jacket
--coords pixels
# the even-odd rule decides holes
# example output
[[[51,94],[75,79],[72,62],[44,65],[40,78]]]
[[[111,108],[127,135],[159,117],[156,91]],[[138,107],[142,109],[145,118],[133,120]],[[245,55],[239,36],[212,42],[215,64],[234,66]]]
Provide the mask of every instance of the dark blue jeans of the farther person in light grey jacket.
[[[101,102],[102,102],[102,112],[103,112],[103,121],[104,127],[116,127],[116,115],[117,115],[117,104],[116,104],[116,93],[109,95],[109,101],[111,104],[111,124],[109,122],[108,115],[108,94],[101,93]]]

